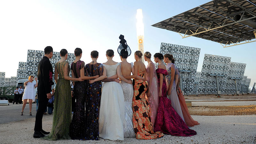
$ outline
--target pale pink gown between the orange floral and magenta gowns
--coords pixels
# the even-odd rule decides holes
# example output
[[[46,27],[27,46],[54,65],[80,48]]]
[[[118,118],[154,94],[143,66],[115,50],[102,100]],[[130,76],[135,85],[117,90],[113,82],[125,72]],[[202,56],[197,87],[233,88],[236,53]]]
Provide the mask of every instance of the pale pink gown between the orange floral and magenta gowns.
[[[151,123],[154,127],[155,119],[156,119],[156,113],[159,103],[158,98],[158,83],[157,83],[157,75],[156,75],[156,69],[155,65],[153,63],[148,64],[146,68],[147,73],[147,81],[148,81],[148,91],[151,93],[150,96],[146,93],[146,98],[148,100],[148,103],[150,105],[150,119]]]

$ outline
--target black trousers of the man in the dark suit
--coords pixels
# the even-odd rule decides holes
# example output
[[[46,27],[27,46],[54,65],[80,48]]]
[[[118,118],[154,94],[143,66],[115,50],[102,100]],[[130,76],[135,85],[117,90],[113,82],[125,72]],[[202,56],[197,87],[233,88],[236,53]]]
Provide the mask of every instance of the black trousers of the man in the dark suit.
[[[47,95],[44,92],[44,90],[37,89],[38,92],[38,108],[36,112],[36,122],[35,122],[35,128],[34,131],[41,131],[42,130],[42,119],[44,115],[44,111],[47,108]]]

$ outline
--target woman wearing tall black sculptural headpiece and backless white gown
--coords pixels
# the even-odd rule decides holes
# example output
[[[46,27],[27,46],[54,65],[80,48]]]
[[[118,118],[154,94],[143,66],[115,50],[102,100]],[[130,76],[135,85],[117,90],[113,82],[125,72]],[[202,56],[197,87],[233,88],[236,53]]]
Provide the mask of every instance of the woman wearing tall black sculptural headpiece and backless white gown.
[[[121,62],[121,71],[122,75],[125,76],[131,76],[131,72],[133,73],[133,63],[127,62],[127,57],[131,55],[131,49],[130,47],[125,44],[126,40],[124,39],[123,35],[119,36],[120,45],[117,49],[117,52],[120,55]],[[131,80],[131,79],[127,79]],[[128,84],[124,81],[120,82],[123,93],[124,93],[124,137],[125,138],[133,138],[135,137],[133,124],[132,124],[132,98],[133,98],[133,86],[132,84]]]

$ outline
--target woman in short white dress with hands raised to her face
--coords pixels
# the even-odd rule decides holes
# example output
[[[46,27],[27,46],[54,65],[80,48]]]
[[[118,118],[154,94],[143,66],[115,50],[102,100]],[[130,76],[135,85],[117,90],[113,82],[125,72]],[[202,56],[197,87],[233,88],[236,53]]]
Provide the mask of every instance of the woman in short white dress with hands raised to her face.
[[[28,81],[26,81],[24,83],[24,86],[25,86],[25,90],[24,90],[24,94],[23,94],[23,97],[22,97],[22,100],[23,100],[23,105],[22,105],[22,111],[21,111],[21,116],[23,116],[23,110],[24,108],[26,107],[26,104],[27,104],[27,100],[29,100],[29,116],[32,116],[31,114],[31,109],[32,109],[32,100],[35,101],[35,88],[37,87],[37,78],[35,78],[36,80],[36,84],[33,83],[33,78],[34,76],[29,76],[28,77]]]

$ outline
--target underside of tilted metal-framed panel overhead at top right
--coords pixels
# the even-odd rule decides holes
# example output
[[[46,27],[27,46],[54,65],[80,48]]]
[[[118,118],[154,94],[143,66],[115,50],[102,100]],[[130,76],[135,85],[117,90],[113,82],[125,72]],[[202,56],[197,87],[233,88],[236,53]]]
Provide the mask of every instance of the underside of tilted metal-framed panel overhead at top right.
[[[256,0],[213,0],[152,26],[177,32],[182,38],[211,40],[223,47],[255,42],[251,40],[256,37]]]

